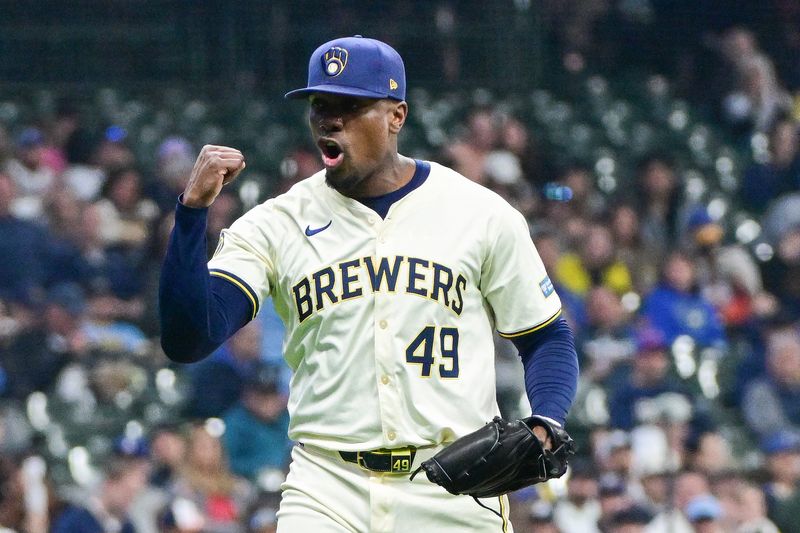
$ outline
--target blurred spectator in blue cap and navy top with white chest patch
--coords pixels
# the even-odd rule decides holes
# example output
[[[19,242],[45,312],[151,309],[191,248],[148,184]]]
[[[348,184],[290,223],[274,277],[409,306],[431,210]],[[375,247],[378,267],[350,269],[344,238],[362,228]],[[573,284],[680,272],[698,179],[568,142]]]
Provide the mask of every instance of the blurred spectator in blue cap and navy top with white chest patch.
[[[668,349],[665,337],[658,330],[645,329],[638,333],[630,375],[621,381],[609,399],[612,427],[631,430],[642,423],[688,420],[691,396],[669,373]]]

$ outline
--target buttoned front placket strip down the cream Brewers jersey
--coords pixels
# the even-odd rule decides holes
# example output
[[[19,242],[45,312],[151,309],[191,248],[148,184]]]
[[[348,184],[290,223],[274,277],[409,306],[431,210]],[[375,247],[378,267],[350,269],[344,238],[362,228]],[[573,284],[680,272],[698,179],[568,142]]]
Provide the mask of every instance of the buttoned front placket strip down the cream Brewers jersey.
[[[390,249],[388,234],[391,220],[381,219],[377,215],[369,215],[367,222],[373,228],[375,242],[375,257],[389,257]],[[381,430],[387,448],[396,447],[398,442],[397,428],[400,427],[398,395],[397,361],[393,346],[396,324],[392,317],[392,296],[386,291],[377,291],[374,296],[374,350],[375,350],[375,378],[378,384],[378,406],[381,416]]]

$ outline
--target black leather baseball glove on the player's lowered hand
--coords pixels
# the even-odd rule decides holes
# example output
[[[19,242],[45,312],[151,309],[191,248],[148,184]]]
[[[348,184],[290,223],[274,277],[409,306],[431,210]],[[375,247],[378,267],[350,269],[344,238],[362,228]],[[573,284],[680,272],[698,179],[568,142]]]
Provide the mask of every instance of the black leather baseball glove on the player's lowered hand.
[[[547,430],[551,449],[542,447],[533,434],[535,426]],[[547,418],[534,415],[507,422],[496,416],[423,462],[411,479],[425,470],[429,480],[452,494],[490,498],[561,477],[573,453],[572,438]]]

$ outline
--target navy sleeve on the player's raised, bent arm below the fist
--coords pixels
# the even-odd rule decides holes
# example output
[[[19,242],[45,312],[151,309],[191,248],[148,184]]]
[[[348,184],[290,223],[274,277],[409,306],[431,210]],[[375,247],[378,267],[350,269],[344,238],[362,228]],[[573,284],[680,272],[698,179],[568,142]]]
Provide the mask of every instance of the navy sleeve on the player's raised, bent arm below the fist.
[[[179,363],[203,359],[252,317],[244,293],[208,272],[207,212],[178,203],[161,268],[161,347],[167,357]]]

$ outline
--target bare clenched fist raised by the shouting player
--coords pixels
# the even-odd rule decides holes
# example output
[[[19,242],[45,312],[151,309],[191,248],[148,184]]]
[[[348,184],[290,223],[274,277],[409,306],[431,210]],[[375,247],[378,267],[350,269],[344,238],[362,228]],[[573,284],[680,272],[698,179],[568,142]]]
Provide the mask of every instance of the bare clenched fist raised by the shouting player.
[[[210,206],[223,185],[236,179],[244,167],[244,156],[236,148],[213,144],[203,146],[183,191],[183,205]]]

